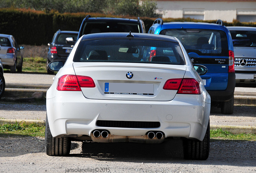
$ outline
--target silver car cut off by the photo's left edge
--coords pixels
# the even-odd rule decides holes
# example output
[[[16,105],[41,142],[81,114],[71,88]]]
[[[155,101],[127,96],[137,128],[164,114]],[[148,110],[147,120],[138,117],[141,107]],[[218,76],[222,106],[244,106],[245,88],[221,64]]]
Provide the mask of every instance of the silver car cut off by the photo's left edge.
[[[12,73],[22,71],[23,56],[21,50],[23,46],[18,46],[14,36],[0,34],[0,58],[4,68],[10,68]]]

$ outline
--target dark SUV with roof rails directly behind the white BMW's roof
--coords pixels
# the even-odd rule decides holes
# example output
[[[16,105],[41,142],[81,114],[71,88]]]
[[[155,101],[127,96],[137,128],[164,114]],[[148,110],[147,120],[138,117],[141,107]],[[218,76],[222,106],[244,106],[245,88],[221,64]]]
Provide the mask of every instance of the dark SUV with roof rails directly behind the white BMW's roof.
[[[84,34],[99,32],[140,32],[145,33],[144,22],[128,18],[92,18],[87,15],[80,27],[78,38]]]

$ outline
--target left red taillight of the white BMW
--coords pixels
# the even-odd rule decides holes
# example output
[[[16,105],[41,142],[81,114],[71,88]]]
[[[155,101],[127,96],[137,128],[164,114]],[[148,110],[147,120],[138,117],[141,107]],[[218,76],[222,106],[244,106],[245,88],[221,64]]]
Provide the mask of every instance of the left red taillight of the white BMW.
[[[93,88],[95,83],[89,76],[64,75],[58,80],[58,91],[81,91],[82,88]]]

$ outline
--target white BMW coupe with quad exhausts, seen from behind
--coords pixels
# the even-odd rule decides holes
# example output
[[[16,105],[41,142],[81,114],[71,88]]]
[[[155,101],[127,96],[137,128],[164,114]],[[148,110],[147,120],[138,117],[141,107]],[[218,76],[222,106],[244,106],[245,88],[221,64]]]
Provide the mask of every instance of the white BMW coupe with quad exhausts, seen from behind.
[[[151,50],[157,56],[149,58]],[[59,71],[46,96],[47,155],[69,154],[71,140],[162,143],[180,137],[184,158],[208,158],[211,99],[198,74],[207,68],[194,67],[177,38],[87,34],[62,66],[49,64]]]

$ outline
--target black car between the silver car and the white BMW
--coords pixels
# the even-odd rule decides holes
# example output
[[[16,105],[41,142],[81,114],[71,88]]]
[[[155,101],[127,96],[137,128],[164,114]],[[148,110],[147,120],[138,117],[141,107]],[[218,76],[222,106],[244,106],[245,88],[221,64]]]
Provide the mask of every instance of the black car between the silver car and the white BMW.
[[[52,42],[48,43],[49,50],[47,56],[47,64],[55,60],[66,61],[68,54],[73,48],[73,44],[66,42],[66,38],[73,38],[76,41],[78,32],[77,31],[61,31],[58,30],[53,38]],[[46,64],[46,65],[47,65]],[[53,74],[51,70],[47,67],[47,74]]]

